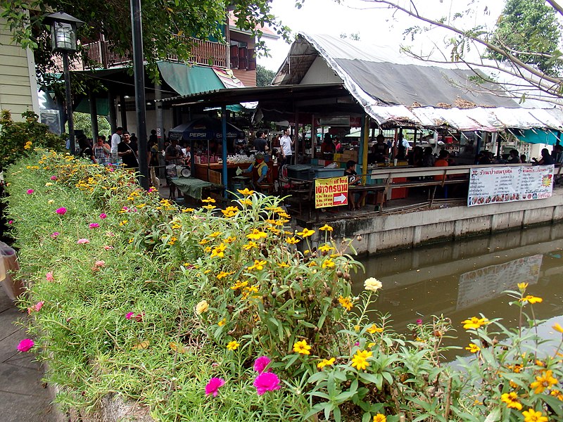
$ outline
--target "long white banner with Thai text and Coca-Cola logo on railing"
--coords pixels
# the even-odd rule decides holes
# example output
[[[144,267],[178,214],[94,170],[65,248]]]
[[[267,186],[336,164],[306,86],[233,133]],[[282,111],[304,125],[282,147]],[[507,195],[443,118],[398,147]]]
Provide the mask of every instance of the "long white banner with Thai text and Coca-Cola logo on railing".
[[[472,169],[467,206],[550,198],[552,190],[553,165]]]

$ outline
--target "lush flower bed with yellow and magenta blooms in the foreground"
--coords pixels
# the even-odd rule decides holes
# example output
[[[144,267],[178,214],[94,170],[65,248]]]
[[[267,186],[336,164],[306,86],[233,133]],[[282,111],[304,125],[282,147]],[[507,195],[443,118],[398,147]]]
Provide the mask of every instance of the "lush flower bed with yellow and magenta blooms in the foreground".
[[[463,321],[472,357],[457,370],[441,360],[447,318],[394,333],[367,310],[385,286],[358,274],[350,243],[324,226],[312,250],[277,198],[179,209],[128,172],[42,151],[7,178],[30,287],[22,348],[49,362],[65,408],[117,393],[163,421],[563,417],[560,345],[538,354],[527,286],[508,293],[521,328]]]

